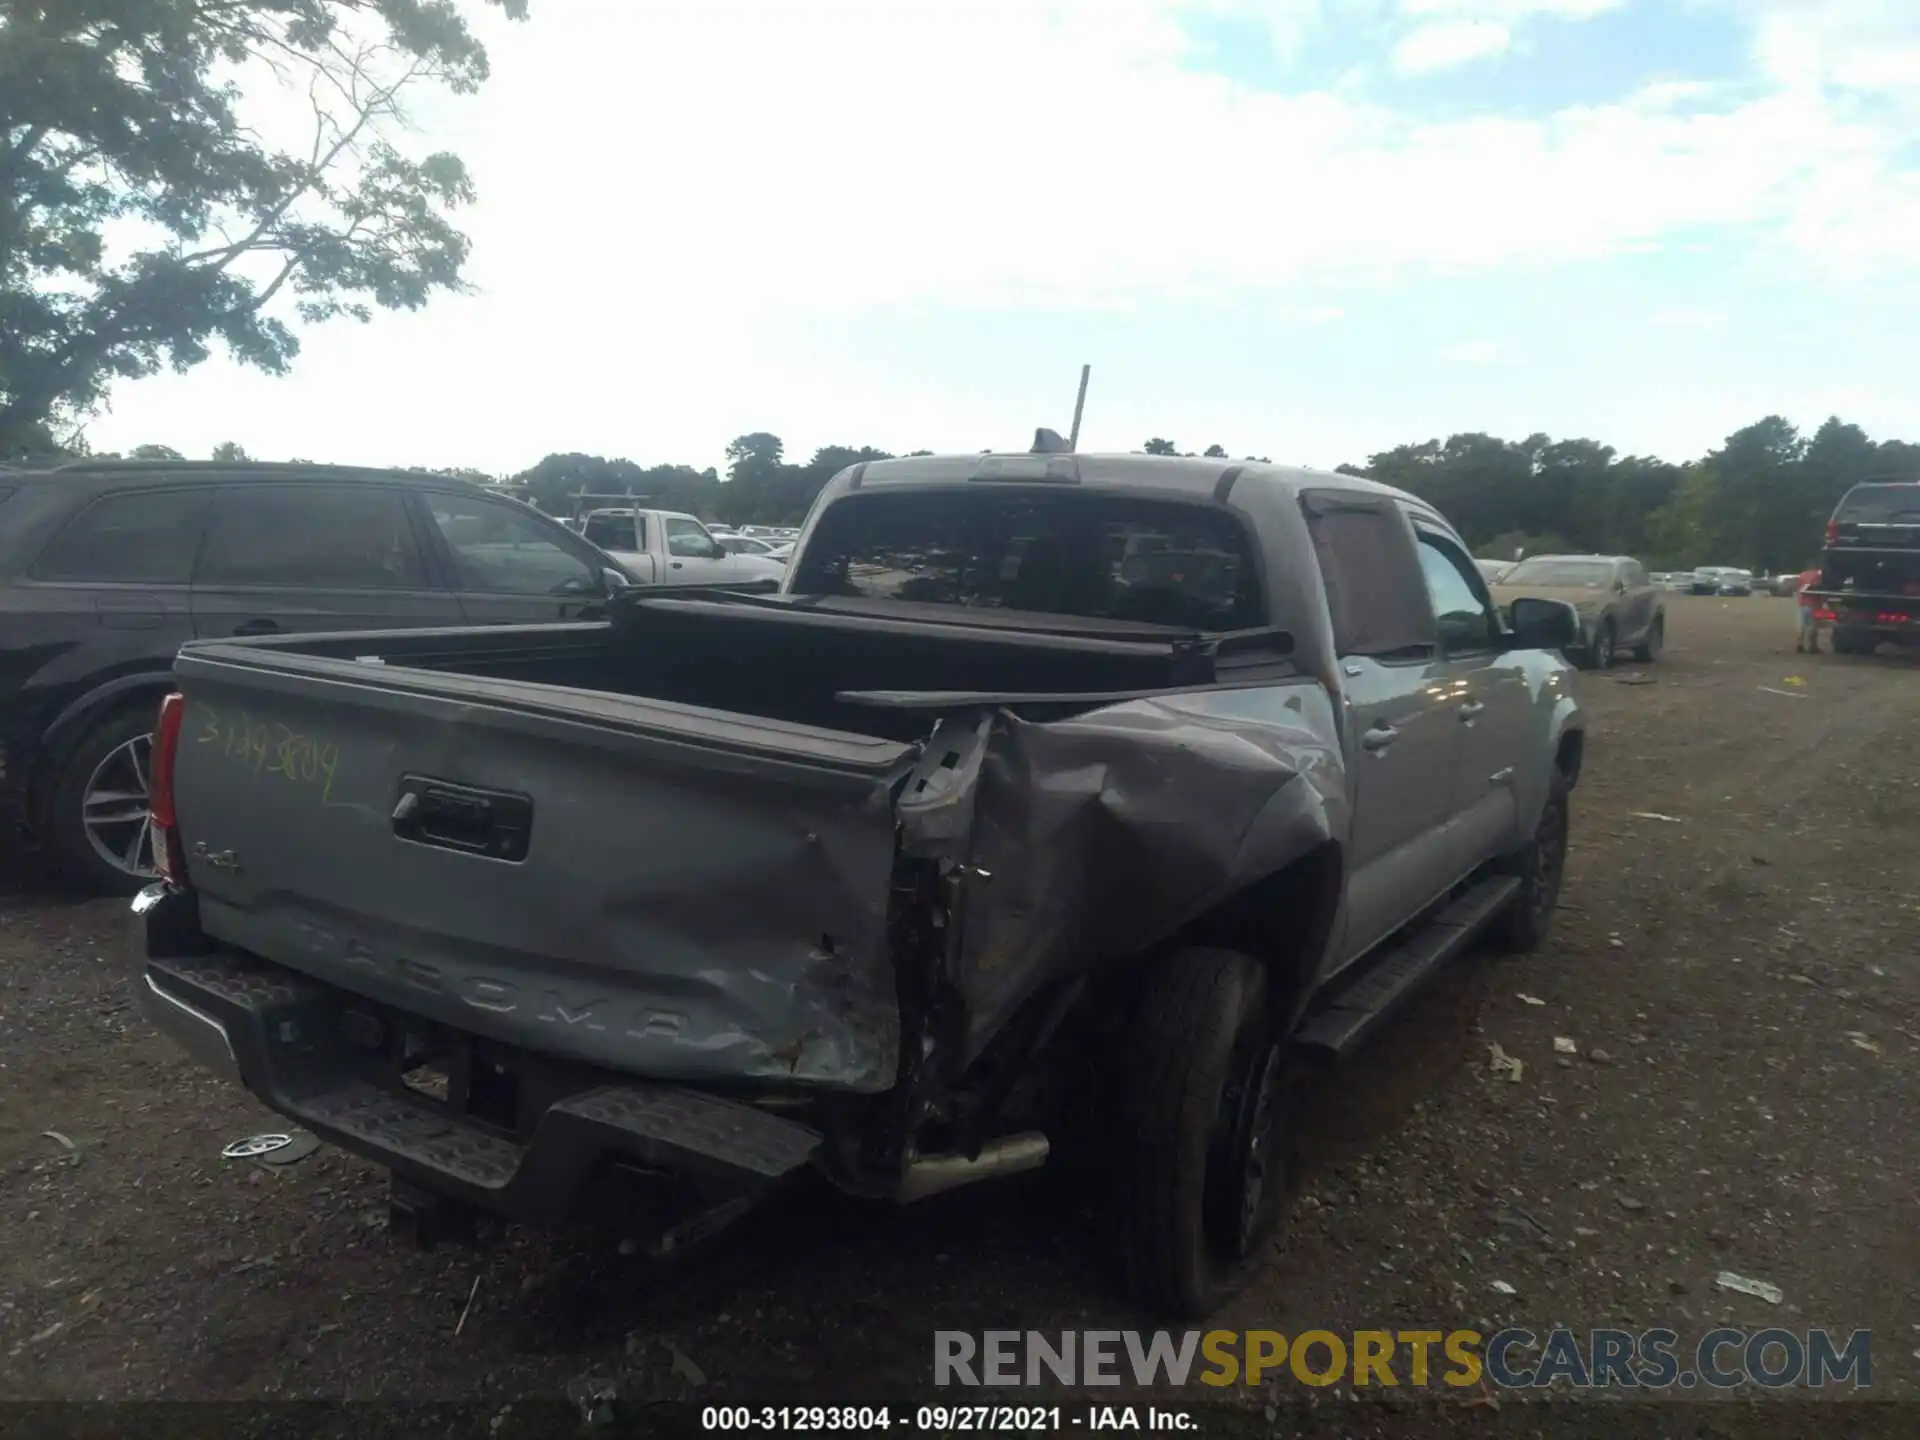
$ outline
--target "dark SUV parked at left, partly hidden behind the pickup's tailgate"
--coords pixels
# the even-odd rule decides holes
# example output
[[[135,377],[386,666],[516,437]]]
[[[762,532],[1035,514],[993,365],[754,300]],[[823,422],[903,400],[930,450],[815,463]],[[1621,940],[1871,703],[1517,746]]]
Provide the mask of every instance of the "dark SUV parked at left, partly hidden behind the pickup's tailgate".
[[[0,470],[0,801],[69,877],[138,889],[150,730],[182,641],[589,618],[628,580],[559,520],[445,476]]]

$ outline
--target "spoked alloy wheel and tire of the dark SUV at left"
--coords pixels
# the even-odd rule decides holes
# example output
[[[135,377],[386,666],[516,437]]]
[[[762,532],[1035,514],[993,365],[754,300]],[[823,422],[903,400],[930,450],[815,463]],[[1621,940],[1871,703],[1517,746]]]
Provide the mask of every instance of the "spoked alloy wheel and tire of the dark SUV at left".
[[[154,879],[144,816],[157,703],[129,703],[96,722],[67,751],[48,791],[54,862],[63,879],[98,895],[132,895]]]

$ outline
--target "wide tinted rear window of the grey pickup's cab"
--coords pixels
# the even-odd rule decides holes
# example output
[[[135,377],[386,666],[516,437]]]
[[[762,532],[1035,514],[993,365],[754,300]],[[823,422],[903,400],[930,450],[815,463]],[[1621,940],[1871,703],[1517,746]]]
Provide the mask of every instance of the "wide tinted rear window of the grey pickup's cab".
[[[1263,624],[1254,551],[1233,516],[1119,495],[849,495],[820,516],[793,591],[1188,630]]]

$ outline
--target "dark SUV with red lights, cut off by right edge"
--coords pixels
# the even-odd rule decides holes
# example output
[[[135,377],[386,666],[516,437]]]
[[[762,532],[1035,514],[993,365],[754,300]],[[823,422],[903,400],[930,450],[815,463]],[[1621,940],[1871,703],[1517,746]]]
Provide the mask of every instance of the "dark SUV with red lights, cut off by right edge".
[[[1826,524],[1820,584],[1809,595],[1834,624],[1837,655],[1920,647],[1920,484],[1849,490]]]

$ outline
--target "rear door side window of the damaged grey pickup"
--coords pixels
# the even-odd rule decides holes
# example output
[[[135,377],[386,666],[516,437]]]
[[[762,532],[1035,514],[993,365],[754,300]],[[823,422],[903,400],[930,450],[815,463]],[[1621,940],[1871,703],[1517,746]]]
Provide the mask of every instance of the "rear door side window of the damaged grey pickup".
[[[1388,503],[1361,495],[1304,495],[1332,637],[1340,655],[1409,657],[1432,651],[1427,588],[1407,524]]]

